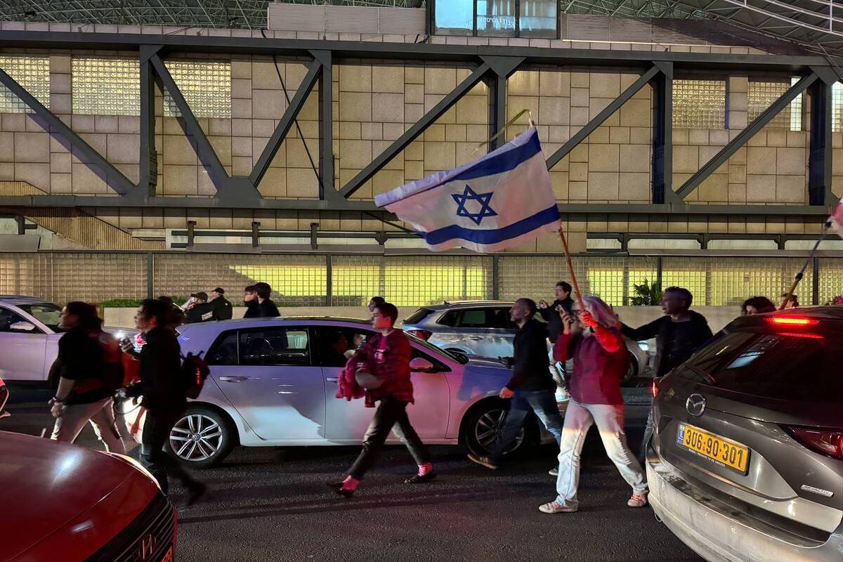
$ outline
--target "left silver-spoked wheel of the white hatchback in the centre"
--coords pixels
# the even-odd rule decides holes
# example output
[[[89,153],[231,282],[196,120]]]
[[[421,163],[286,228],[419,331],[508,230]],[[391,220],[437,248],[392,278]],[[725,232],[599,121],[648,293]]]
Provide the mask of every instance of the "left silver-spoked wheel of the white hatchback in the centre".
[[[228,418],[210,408],[189,408],[169,431],[167,452],[180,463],[208,468],[220,463],[234,447]]]

